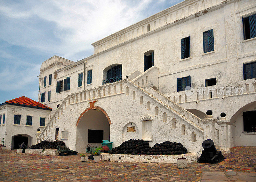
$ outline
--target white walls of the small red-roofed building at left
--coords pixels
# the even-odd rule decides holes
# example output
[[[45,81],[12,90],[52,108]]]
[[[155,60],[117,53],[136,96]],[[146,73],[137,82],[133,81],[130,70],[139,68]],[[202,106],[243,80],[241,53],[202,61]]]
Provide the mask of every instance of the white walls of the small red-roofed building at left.
[[[28,147],[35,145],[36,131],[38,128],[44,129],[44,126],[40,126],[40,118],[45,118],[45,123],[50,118],[50,110],[36,109],[24,106],[15,106],[4,104],[0,106],[1,125],[0,125],[0,137],[1,144],[2,139],[5,138],[5,145],[8,150],[14,148],[14,137],[27,137]],[[14,115],[20,115],[20,124],[14,124]],[[32,116],[32,125],[27,125],[27,116]],[[3,118],[4,117],[4,118]],[[3,124],[4,120],[4,124]],[[17,147],[17,146],[16,146]]]

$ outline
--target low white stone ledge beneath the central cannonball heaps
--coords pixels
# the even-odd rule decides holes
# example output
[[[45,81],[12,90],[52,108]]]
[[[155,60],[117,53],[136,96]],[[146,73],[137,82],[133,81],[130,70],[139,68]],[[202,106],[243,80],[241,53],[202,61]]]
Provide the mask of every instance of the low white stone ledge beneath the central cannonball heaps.
[[[177,163],[177,156],[164,156],[164,155],[127,155],[127,154],[109,154],[102,153],[102,160],[105,161],[120,161],[120,162],[141,162],[141,163]],[[184,156],[184,155],[183,155]],[[188,163],[197,162],[197,155],[195,153],[187,153]]]

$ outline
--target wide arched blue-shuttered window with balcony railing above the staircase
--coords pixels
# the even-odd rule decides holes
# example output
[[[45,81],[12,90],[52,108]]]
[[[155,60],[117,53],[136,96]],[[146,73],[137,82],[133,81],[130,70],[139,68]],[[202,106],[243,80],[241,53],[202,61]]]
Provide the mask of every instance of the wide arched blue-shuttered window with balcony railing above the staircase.
[[[107,71],[107,79],[102,84],[113,83],[122,80],[122,65],[111,66]]]

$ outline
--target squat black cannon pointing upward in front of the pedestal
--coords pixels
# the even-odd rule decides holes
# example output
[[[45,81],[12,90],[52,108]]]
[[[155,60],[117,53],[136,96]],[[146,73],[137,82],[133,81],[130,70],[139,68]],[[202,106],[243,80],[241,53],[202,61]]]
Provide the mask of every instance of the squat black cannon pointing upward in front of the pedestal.
[[[202,143],[204,150],[202,155],[197,159],[199,163],[219,163],[225,159],[221,151],[217,151],[211,139],[207,139]]]

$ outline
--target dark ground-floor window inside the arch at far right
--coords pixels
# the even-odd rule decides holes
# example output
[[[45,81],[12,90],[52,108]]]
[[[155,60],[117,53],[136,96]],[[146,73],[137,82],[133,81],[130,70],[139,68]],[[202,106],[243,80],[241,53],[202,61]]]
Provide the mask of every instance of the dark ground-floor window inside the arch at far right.
[[[244,131],[256,132],[256,111],[247,111],[243,113]]]

